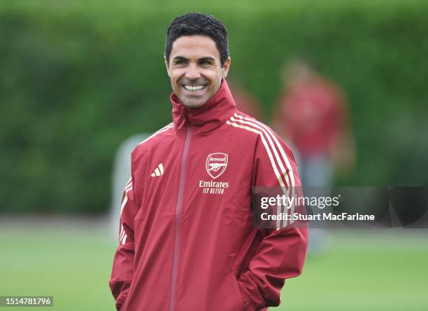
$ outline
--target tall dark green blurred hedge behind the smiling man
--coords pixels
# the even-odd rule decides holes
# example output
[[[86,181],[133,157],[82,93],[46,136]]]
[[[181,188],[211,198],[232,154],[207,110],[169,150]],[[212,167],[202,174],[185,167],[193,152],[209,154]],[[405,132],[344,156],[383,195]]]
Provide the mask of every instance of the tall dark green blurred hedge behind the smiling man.
[[[341,85],[359,151],[341,184],[426,184],[427,2],[246,3],[0,4],[0,211],[106,211],[117,146],[170,122],[164,34],[186,11],[227,25],[231,74],[266,122],[290,55],[311,55]]]

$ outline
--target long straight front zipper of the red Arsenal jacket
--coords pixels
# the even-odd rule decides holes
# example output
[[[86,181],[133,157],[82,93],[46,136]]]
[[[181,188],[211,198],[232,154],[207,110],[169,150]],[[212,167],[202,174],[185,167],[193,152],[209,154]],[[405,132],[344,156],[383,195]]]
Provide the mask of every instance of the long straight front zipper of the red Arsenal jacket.
[[[189,153],[191,135],[192,135],[192,127],[187,126],[183,157],[181,158],[180,184],[178,184],[178,196],[177,196],[177,205],[176,205],[176,241],[174,243],[174,258],[173,258],[173,270],[172,270],[172,277],[171,277],[171,298],[169,300],[169,311],[174,310],[174,303],[175,303],[175,296],[176,296],[178,247],[180,244],[180,214],[181,214],[181,207],[183,205],[187,154]]]

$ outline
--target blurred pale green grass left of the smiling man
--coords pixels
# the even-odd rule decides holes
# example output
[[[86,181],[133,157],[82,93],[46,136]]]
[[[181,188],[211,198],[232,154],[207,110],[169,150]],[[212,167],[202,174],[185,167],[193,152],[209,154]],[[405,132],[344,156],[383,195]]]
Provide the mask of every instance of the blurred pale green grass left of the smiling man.
[[[115,310],[108,279],[116,243],[105,228],[8,226],[0,245],[0,296],[54,296],[53,310]]]

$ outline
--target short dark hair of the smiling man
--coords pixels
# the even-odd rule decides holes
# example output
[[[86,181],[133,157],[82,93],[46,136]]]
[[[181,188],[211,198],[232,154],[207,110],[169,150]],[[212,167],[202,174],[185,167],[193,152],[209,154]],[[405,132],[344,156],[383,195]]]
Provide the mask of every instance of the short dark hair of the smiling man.
[[[212,15],[192,12],[180,15],[175,18],[166,32],[164,56],[169,62],[169,55],[173,42],[180,36],[191,36],[192,34],[201,34],[209,36],[215,42],[217,50],[220,52],[220,62],[222,66],[229,57],[229,44],[227,43],[227,29],[223,23]]]

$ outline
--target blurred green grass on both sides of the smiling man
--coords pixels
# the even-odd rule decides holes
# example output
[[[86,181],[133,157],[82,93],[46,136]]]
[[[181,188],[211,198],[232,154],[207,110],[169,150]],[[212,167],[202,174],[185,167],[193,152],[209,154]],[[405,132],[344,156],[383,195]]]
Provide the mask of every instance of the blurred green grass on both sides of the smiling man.
[[[270,310],[427,310],[426,231],[361,231],[331,231],[331,248],[308,257]],[[53,310],[115,310],[116,243],[106,226],[1,223],[0,245],[1,296],[54,296]]]

